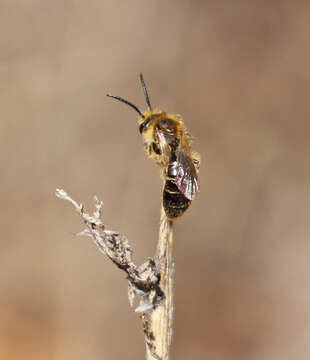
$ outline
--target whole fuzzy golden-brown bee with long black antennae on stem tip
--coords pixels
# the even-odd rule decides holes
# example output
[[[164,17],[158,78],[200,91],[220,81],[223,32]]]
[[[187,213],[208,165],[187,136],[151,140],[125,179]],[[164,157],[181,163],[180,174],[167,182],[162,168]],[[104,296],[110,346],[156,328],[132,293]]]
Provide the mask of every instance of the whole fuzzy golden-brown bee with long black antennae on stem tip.
[[[140,74],[140,81],[148,110],[140,111],[129,101],[112,94],[139,114],[139,132],[147,155],[163,169],[163,207],[169,220],[185,213],[199,192],[199,154],[192,152],[192,136],[180,115],[153,110],[148,91]]]

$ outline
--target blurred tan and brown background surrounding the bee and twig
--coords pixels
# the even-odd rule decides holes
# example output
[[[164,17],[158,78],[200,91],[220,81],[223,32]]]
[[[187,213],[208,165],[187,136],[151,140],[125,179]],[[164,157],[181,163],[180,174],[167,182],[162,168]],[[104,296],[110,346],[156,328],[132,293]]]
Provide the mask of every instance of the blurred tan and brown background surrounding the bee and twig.
[[[161,181],[137,116],[182,114],[201,193],[175,225],[172,358],[309,359],[310,4],[0,4],[0,358],[143,359],[125,276],[67,190],[154,253]]]

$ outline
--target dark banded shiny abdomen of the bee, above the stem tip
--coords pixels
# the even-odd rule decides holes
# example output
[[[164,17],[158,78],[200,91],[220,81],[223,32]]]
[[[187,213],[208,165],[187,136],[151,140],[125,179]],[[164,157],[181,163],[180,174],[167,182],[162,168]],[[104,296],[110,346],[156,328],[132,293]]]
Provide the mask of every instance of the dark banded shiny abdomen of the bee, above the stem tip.
[[[176,184],[167,180],[163,191],[163,206],[169,219],[176,219],[187,210],[191,200],[188,200]]]

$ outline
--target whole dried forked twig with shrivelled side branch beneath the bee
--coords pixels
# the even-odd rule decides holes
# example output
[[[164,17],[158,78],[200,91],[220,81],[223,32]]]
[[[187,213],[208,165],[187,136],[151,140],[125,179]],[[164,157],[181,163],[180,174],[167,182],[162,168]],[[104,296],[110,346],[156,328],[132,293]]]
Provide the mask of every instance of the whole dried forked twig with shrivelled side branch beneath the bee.
[[[98,249],[126,272],[130,305],[133,305],[136,296],[140,299],[135,311],[142,320],[146,359],[168,360],[173,317],[172,221],[166,219],[162,209],[156,254],[154,258],[137,266],[131,259],[133,251],[128,239],[116,231],[105,229],[101,220],[102,201],[94,198],[95,211],[89,215],[84,211],[84,206],[74,201],[64,190],[57,189],[56,196],[69,201],[83,219],[86,229],[77,235],[91,237]]]

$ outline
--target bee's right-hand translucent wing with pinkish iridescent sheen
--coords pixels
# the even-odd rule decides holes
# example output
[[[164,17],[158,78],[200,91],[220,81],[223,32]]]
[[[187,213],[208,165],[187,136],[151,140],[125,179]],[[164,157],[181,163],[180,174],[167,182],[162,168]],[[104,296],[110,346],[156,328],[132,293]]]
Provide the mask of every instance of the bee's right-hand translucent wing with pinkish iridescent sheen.
[[[180,192],[189,200],[194,200],[199,192],[199,181],[194,161],[185,144],[176,150],[177,176],[176,185]]]

